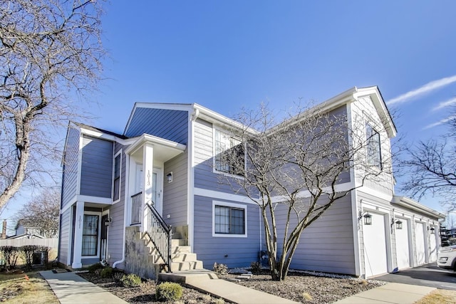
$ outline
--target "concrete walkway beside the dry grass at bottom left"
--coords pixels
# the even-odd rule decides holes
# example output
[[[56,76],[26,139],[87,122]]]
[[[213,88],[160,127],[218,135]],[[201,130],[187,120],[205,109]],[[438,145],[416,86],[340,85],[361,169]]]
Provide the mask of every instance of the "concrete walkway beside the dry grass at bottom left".
[[[40,274],[51,286],[61,304],[127,303],[103,288],[84,280],[76,273],[40,271]]]

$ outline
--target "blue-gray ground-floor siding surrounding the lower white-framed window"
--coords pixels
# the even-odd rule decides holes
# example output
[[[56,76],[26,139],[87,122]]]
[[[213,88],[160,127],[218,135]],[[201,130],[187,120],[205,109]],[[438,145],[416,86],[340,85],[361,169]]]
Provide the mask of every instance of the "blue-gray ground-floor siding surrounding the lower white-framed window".
[[[257,205],[247,204],[247,238],[213,237],[212,221],[212,199],[195,196],[193,251],[197,253],[198,260],[203,262],[204,268],[212,269],[215,262],[233,268],[250,266],[253,261],[258,261],[260,221]]]

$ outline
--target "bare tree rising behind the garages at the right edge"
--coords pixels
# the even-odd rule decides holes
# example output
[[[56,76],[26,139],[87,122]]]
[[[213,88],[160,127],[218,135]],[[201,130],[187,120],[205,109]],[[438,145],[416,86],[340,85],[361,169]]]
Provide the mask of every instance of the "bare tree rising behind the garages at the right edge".
[[[406,178],[403,191],[416,199],[425,194],[441,196],[445,199],[442,203],[452,210],[456,208],[456,118],[448,125],[447,136],[406,147],[400,170]]]

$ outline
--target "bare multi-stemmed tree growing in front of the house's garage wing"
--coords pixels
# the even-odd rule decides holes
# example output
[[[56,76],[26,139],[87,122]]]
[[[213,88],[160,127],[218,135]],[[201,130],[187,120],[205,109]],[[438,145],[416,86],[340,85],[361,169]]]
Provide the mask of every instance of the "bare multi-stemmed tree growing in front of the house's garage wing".
[[[381,159],[375,149],[369,151],[381,145],[380,135],[366,137],[364,120],[348,125],[344,109],[299,110],[278,125],[265,105],[244,110],[237,117],[244,127],[232,130],[239,145],[217,155],[217,169],[242,176],[224,176],[223,182],[261,209],[274,280],[286,278],[304,229],[335,201],[366,179],[390,178],[388,153]],[[357,172],[356,187],[340,189],[338,184],[350,180],[352,169]]]

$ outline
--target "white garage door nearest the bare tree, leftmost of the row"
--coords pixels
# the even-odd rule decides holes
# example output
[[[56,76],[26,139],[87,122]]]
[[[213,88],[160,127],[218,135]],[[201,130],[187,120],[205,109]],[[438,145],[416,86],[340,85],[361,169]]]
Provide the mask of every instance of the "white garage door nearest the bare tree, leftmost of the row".
[[[366,278],[388,272],[388,264],[386,260],[385,220],[383,215],[371,215],[372,225],[365,225],[363,223]]]

